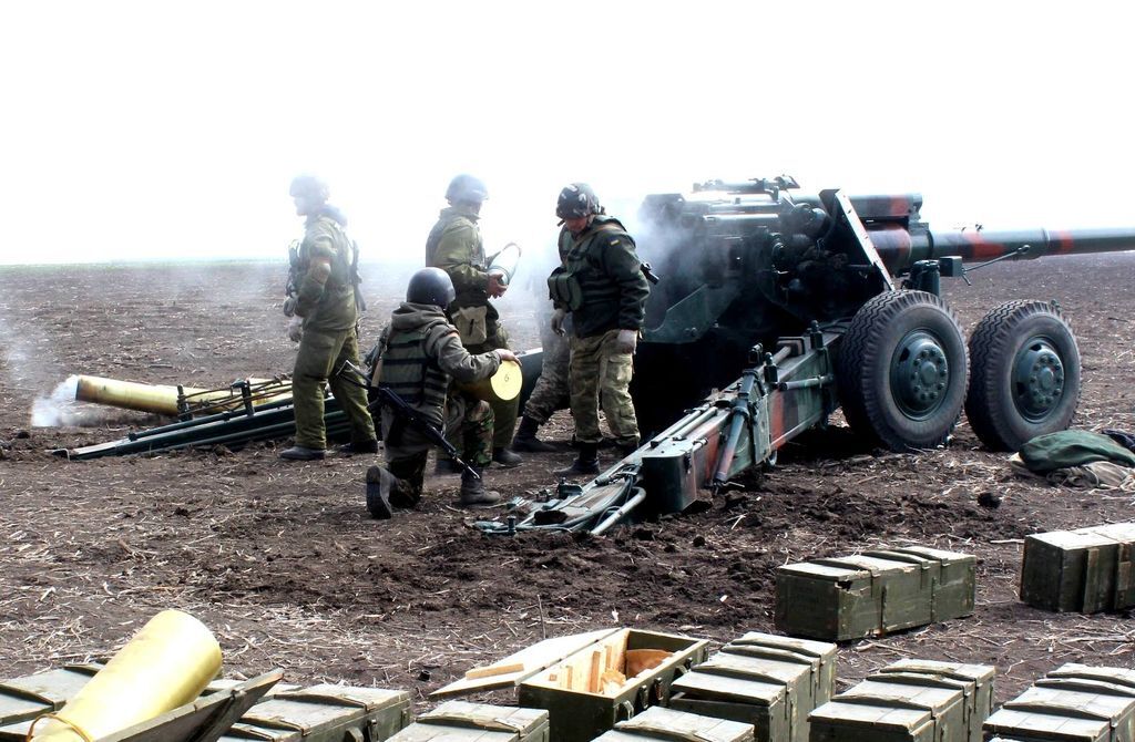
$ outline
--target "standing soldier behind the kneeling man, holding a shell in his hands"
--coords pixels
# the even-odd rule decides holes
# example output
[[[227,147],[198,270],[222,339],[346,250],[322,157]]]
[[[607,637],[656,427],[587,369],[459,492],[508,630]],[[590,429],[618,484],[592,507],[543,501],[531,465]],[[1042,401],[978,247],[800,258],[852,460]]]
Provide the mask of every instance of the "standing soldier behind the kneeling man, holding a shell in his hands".
[[[426,239],[426,264],[440,268],[449,275],[456,298],[446,307],[446,315],[461,334],[461,342],[470,353],[508,348],[508,334],[499,322],[496,307],[489,298],[504,296],[507,286],[499,276],[488,272],[485,246],[477,226],[481,204],[488,199],[485,184],[471,175],[459,175],[446,188],[449,202]],[[501,466],[516,466],[521,457],[510,448],[516,423],[520,399],[493,403],[493,461]],[[439,472],[447,469],[438,459]]]

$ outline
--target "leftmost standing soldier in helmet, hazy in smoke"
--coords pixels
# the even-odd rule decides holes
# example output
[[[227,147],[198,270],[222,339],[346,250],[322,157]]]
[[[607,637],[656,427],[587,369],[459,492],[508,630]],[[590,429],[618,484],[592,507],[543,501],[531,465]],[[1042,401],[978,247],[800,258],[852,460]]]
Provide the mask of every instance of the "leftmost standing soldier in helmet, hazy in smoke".
[[[292,180],[289,192],[296,214],[306,221],[294,267],[295,294],[284,303],[284,313],[292,318],[288,337],[300,343],[300,351],[292,374],[295,445],[280,452],[280,458],[312,461],[325,456],[325,382],[351,422],[351,442],[344,449],[377,453],[367,394],[339,376],[344,362],[359,363],[358,250],[343,230],[343,213],[327,204],[327,184],[301,175]]]

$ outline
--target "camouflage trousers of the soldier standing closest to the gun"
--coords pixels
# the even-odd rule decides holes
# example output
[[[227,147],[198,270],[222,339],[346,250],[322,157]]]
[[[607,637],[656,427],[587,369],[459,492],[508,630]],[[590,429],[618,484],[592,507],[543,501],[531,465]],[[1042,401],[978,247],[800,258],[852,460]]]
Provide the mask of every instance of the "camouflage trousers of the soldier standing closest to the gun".
[[[575,419],[575,439],[585,444],[603,440],[599,407],[620,445],[638,445],[638,420],[631,402],[630,383],[634,356],[615,351],[619,330],[594,337],[571,338],[571,414]]]

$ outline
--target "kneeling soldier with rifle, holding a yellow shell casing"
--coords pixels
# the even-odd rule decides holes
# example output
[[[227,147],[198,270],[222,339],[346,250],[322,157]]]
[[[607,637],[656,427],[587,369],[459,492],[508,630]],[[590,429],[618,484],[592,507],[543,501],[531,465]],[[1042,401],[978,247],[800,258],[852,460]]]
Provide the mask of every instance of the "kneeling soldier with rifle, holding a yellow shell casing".
[[[516,361],[508,348],[477,355],[462,347],[444,307],[453,302],[453,283],[444,270],[423,268],[410,279],[406,301],[394,310],[379,338],[378,382],[387,386],[438,430],[456,429],[462,458],[476,472],[461,474],[461,505],[493,505],[501,496],[480,479],[493,456],[493,408],[487,402],[449,390],[449,378],[479,381],[496,373],[502,361]],[[519,363],[519,361],[516,361]],[[430,441],[384,411],[386,469],[367,470],[367,506],[375,517],[389,517],[389,506],[410,508],[421,499]]]

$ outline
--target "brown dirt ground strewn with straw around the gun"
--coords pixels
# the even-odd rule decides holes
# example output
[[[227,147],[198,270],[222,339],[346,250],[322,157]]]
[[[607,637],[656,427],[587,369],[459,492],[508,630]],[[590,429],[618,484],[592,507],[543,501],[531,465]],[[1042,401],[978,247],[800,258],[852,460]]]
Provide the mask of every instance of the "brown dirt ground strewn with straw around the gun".
[[[976,614],[843,647],[841,688],[902,657],[997,665],[999,701],[1067,661],[1133,666],[1129,614],[1051,614],[1016,593],[1026,534],[1128,520],[1132,494],[1015,478],[964,421],[948,448],[922,455],[857,447],[834,424],[707,512],[587,540],[482,536],[453,507],[454,478],[430,482],[420,511],[377,522],[363,506],[371,457],[286,463],[286,441],[91,462],[47,453],[161,422],[100,408],[79,425],[31,427],[33,402],[68,374],[216,387],[291,371],[284,272],[0,269],[0,676],[106,655],[175,607],[213,630],[229,676],[281,667],[289,682],[406,689],[421,710],[431,690],[544,635],[627,625],[716,644],[772,631],[777,566],[908,542],[977,555]],[[407,272],[365,272],[373,338]],[[972,287],[950,281],[945,298],[967,331],[1002,301],[1059,300],[1084,359],[1076,425],[1132,431],[1133,277],[1135,254],[999,264]],[[508,296],[502,314],[518,346],[538,344],[530,304]],[[566,440],[570,418],[553,428]],[[490,483],[535,492],[571,457],[530,456],[490,470]]]

